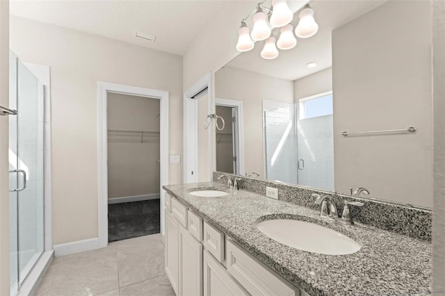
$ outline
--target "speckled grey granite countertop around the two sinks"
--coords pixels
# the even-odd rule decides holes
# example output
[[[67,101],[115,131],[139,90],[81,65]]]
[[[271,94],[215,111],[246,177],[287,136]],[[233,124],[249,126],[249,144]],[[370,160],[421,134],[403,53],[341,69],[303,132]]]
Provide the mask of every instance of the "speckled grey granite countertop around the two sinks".
[[[432,246],[365,224],[344,225],[319,211],[280,202],[216,182],[163,188],[191,211],[223,231],[238,245],[310,295],[423,295],[432,283]],[[217,189],[224,197],[195,197],[188,192]],[[314,222],[353,238],[362,249],[348,255],[323,255],[282,245],[261,233],[261,220],[293,218]],[[326,242],[329,243],[329,242]]]

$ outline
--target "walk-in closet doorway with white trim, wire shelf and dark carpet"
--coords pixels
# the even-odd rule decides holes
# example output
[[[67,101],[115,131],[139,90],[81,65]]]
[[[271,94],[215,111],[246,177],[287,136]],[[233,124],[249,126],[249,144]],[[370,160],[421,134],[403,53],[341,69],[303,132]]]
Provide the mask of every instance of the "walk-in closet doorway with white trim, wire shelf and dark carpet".
[[[99,247],[163,232],[168,92],[99,83]]]

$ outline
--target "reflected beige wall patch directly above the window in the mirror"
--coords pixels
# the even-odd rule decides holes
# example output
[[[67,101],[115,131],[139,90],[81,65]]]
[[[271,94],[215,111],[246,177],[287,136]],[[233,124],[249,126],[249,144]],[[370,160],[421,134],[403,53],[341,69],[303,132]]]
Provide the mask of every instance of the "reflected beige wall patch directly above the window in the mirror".
[[[332,91],[332,68],[297,79],[294,81],[293,88],[296,103],[298,103],[299,99]]]

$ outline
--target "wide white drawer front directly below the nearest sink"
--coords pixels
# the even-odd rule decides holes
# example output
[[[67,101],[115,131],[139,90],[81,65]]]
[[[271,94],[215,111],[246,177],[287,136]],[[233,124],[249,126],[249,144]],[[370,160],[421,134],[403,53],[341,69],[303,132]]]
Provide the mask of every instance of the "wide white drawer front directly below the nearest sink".
[[[227,271],[252,295],[300,295],[300,290],[227,239]]]

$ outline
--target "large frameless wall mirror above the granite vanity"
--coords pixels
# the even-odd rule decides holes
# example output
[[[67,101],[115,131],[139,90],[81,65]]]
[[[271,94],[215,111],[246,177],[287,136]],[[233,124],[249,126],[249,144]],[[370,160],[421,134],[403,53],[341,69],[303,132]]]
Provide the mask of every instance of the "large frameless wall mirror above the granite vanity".
[[[216,72],[216,170],[432,208],[430,1],[310,5],[312,38]]]

